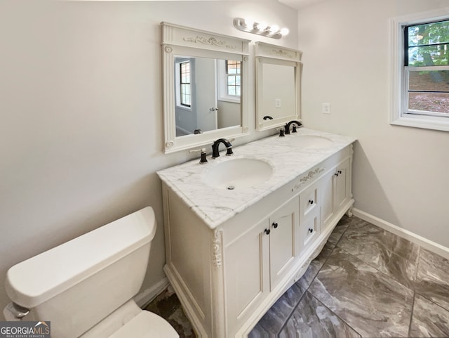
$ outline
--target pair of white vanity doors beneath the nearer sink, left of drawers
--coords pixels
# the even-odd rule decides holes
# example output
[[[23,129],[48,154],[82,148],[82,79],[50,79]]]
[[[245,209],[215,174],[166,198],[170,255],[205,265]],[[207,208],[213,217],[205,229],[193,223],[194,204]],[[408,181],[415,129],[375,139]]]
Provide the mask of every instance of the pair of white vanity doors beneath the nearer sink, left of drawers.
[[[230,327],[243,325],[267,294],[290,273],[298,253],[295,247],[298,235],[298,199],[295,197],[269,217],[235,238],[229,238],[229,242],[224,236],[223,261]]]

